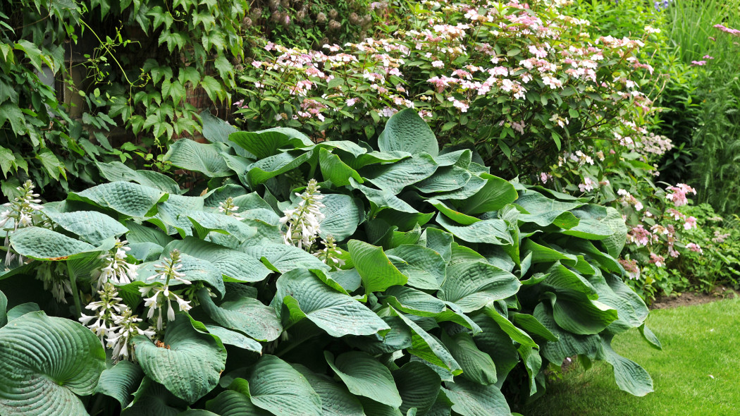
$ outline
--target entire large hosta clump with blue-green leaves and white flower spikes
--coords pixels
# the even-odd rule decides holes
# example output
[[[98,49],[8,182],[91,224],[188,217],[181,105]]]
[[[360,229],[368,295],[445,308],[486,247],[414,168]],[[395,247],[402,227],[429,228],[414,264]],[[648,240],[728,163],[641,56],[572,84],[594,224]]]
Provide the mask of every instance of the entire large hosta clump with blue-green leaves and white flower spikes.
[[[197,196],[110,164],[4,225],[26,260],[0,276],[3,413],[509,415],[576,355],[652,391],[610,346],[659,346],[615,210],[440,152],[413,110],[379,150],[205,131],[166,156],[209,178]]]

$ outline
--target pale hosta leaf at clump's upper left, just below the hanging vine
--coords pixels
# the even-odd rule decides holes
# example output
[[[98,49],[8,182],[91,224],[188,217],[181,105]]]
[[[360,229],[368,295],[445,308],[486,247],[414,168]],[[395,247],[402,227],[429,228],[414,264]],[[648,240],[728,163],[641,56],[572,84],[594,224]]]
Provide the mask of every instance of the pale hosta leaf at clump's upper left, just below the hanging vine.
[[[228,149],[225,144],[202,144],[184,138],[169,146],[164,160],[172,163],[172,166],[201,172],[209,178],[221,178],[234,173],[220,154]]]

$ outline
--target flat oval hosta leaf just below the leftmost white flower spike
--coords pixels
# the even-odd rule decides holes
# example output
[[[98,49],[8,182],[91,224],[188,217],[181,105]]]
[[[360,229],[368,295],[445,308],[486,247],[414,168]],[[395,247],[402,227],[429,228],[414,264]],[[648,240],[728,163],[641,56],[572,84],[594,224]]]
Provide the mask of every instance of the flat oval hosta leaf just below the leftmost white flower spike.
[[[70,256],[96,251],[91,244],[41,227],[21,228],[13,232],[10,245],[19,255],[36,260],[66,260]]]

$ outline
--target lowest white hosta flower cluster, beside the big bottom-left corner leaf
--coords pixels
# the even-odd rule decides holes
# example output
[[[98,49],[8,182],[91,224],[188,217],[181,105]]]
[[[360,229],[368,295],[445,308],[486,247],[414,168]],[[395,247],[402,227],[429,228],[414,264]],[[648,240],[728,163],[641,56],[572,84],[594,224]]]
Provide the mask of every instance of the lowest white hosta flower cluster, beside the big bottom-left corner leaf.
[[[131,309],[118,297],[118,291],[110,282],[102,285],[98,297],[99,301],[85,306],[85,309],[92,311],[92,315],[82,314],[79,321],[95,332],[101,343],[105,338],[107,348],[112,349],[114,363],[118,360],[135,360],[129,340],[136,335],[144,335],[151,339],[155,332],[139,327],[141,318],[133,315]]]

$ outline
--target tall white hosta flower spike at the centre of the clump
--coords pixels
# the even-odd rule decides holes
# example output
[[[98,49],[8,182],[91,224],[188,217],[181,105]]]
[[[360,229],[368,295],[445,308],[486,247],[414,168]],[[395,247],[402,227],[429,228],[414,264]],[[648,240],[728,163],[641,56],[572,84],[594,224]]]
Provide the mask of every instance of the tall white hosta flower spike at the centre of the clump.
[[[321,203],[324,195],[321,195],[318,189],[316,179],[310,180],[303,194],[295,194],[301,199],[298,206],[283,211],[284,216],[280,218],[280,224],[286,227],[283,234],[285,244],[310,251],[319,235],[321,221],[326,218],[320,211],[325,207]]]

